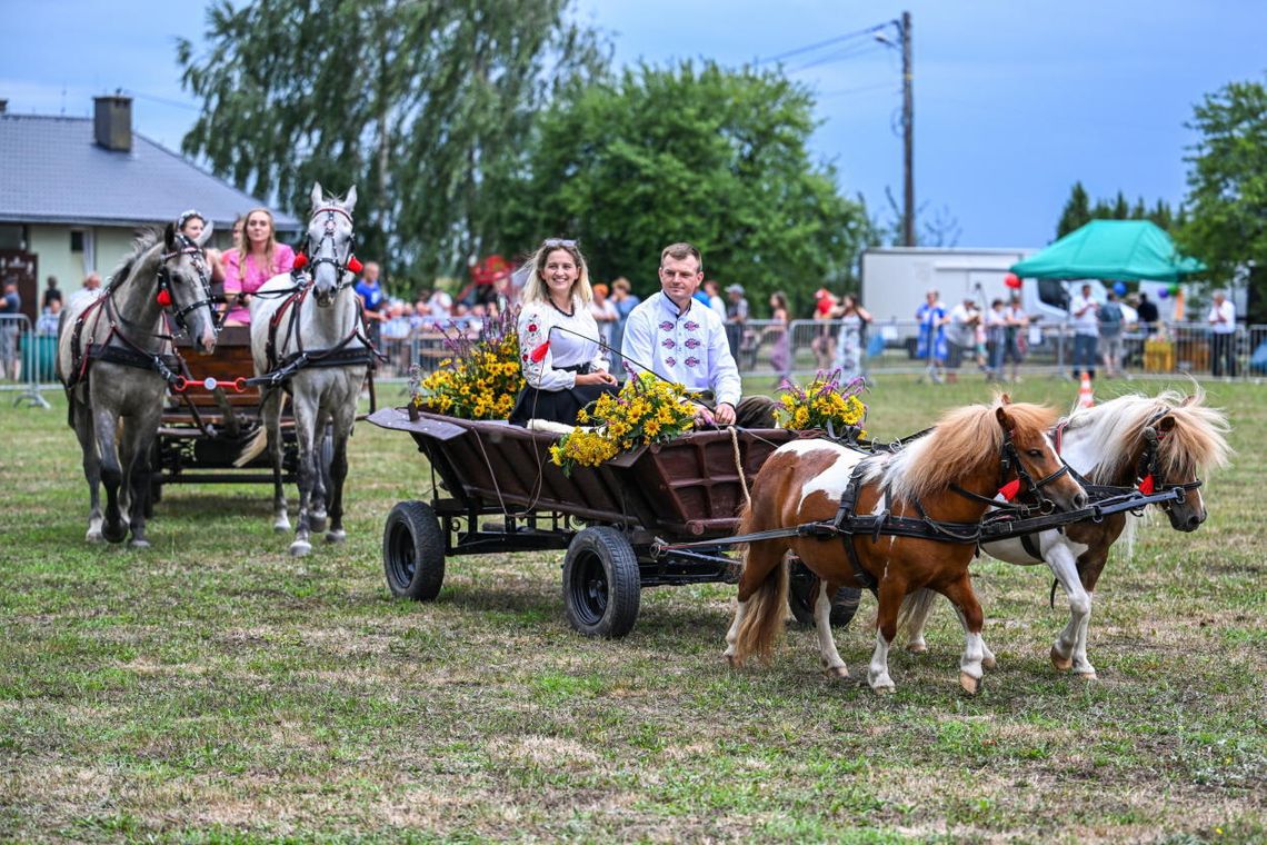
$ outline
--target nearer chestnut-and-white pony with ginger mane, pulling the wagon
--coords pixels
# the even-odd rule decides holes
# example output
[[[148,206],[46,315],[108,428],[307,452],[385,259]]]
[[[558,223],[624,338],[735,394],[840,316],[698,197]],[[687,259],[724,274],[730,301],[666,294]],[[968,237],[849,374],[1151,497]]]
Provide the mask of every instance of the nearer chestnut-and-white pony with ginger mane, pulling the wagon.
[[[1087,494],[1064,471],[1055,454],[1048,435],[1054,422],[1055,412],[1050,408],[1012,404],[1001,397],[991,407],[948,412],[933,433],[897,455],[868,456],[830,441],[793,441],[761,466],[740,531],[750,533],[832,519],[859,464],[864,466],[856,514],[889,512],[910,518],[926,514],[933,521],[972,524],[979,522],[987,502],[1000,488],[1017,478],[1028,478],[1024,486],[1041,488],[1040,494],[1059,508],[1081,508]],[[841,587],[867,584],[855,574],[845,542],[848,537],[843,541],[794,536],[749,543],[735,621],[726,633],[726,658],[731,665],[741,665],[753,654],[768,658],[783,630],[788,592],[786,554],[791,550],[818,576],[813,609],[824,670],[832,677],[849,677],[831,635],[831,597]],[[859,533],[853,543],[859,565],[875,581],[879,599],[875,651],[867,669],[872,689],[893,690],[888,650],[897,635],[898,609],[907,594],[927,588],[949,598],[964,621],[967,642],[959,663],[959,683],[976,693],[984,656],[981,604],[968,578],[976,542],[955,542],[944,535],[938,540]]]

